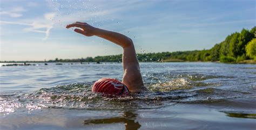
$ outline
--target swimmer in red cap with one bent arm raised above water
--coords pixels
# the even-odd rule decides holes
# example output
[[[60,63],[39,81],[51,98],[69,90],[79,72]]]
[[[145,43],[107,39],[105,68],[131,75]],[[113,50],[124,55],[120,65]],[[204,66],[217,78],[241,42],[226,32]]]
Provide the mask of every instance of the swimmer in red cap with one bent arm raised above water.
[[[130,38],[117,32],[103,30],[78,21],[66,26],[66,28],[70,27],[78,27],[74,31],[87,37],[95,35],[123,47],[123,81],[120,82],[113,78],[101,78],[93,84],[92,92],[102,92],[111,95],[127,95],[129,93],[149,91],[143,84],[136,51]]]

